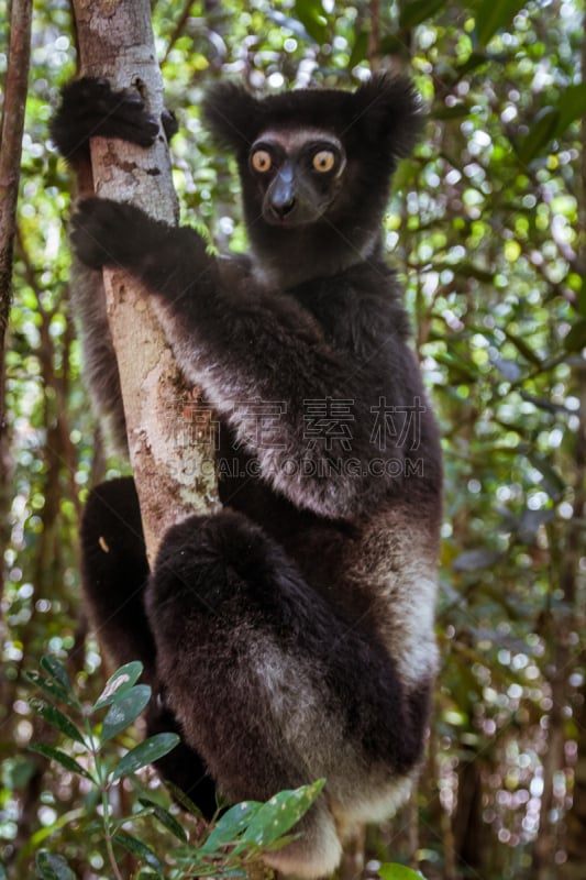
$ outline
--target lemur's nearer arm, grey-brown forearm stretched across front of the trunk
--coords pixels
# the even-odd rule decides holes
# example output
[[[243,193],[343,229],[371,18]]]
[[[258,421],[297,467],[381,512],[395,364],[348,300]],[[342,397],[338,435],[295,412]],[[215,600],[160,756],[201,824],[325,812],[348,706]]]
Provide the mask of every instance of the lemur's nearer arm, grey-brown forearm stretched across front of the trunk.
[[[377,452],[371,442],[371,406],[383,378],[367,358],[356,363],[352,352],[332,345],[294,297],[267,292],[250,275],[234,278],[194,230],[156,222],[130,205],[85,200],[74,217],[71,240],[86,265],[120,266],[143,282],[180,369],[257,454],[263,476],[294,503],[345,518],[389,492],[396,476],[373,480],[368,473]],[[388,389],[389,399],[405,394]],[[328,400],[350,402],[349,432],[328,444],[310,443],[303,407]],[[237,406],[254,402],[287,402],[267,448],[251,437],[250,414]],[[389,452],[402,460],[401,447]],[[357,468],[336,473],[339,462],[349,458]]]

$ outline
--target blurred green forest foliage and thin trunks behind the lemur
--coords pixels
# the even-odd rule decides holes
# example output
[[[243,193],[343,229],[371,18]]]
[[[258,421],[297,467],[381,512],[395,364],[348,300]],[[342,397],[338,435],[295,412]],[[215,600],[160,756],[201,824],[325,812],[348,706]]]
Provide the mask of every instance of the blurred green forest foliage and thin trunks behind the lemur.
[[[0,0],[1,87],[9,11]],[[421,781],[408,807],[368,833],[366,876],[394,861],[428,880],[584,877],[584,12],[582,0],[153,3],[179,121],[181,217],[220,249],[246,242],[233,163],[200,119],[213,81],[266,95],[355,87],[389,69],[409,74],[424,102],[385,246],[443,439],[441,670]],[[124,471],[81,382],[65,228],[71,178],[48,135],[76,72],[69,3],[36,3],[3,364],[0,865],[30,878],[43,850],[96,880],[110,875],[87,780],[30,750],[67,746],[63,725],[59,738],[34,711],[25,675],[51,654],[82,701],[103,689],[80,607],[77,529],[89,487]],[[136,728],[113,737],[112,755],[140,739]],[[113,809],[139,813],[145,796],[176,815],[148,773],[129,779]],[[159,858],[169,834],[164,823],[136,832]],[[132,851],[129,877],[157,876]]]

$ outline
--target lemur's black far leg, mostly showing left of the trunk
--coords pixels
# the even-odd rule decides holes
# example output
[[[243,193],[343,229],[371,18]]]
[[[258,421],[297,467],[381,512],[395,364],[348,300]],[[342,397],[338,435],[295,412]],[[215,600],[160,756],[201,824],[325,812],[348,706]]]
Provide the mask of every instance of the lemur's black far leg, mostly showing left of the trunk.
[[[181,743],[156,761],[161,774],[196,803],[204,816],[217,811],[215,785],[199,755],[183,739],[166,705],[156,672],[156,647],[144,607],[148,564],[139,498],[132,477],[95,488],[81,521],[81,573],[90,617],[100,642],[118,666],[140,660],[153,688],[146,734],[177,733]]]

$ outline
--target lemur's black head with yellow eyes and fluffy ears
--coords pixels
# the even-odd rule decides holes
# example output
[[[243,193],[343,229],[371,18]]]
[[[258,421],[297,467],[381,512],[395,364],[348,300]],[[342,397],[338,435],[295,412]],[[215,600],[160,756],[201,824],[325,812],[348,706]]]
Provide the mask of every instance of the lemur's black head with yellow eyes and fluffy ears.
[[[410,81],[385,75],[354,92],[299,89],[258,100],[235,84],[210,90],[204,119],[236,155],[251,243],[269,272],[295,282],[374,252],[419,111]],[[295,265],[301,255],[305,273]]]

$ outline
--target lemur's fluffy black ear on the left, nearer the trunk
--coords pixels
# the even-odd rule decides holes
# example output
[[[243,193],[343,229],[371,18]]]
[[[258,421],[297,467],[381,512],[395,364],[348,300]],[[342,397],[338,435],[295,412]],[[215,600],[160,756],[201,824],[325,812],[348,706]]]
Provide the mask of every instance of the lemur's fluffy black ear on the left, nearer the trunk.
[[[261,102],[235,82],[220,82],[209,89],[202,112],[215,141],[235,152],[250,147],[263,119]]]

